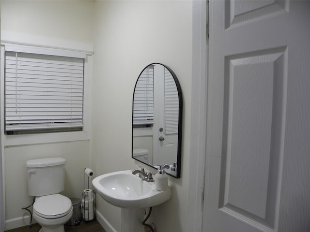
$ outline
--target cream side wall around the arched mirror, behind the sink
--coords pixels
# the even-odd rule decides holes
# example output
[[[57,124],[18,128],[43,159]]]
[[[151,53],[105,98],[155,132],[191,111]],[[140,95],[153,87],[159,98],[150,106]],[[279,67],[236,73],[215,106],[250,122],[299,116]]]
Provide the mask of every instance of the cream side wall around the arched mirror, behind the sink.
[[[183,91],[181,178],[169,177],[170,201],[153,208],[158,232],[188,232],[188,176],[192,65],[192,1],[95,1],[92,163],[96,175],[134,169],[132,95],[142,69],[169,66]],[[154,170],[153,170],[154,171]],[[120,232],[120,208],[97,197],[99,217]],[[100,219],[100,218],[99,218]],[[106,222],[107,222],[106,221]],[[112,229],[107,230],[112,231]]]

